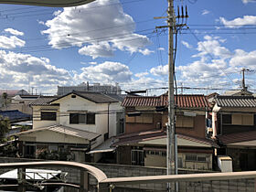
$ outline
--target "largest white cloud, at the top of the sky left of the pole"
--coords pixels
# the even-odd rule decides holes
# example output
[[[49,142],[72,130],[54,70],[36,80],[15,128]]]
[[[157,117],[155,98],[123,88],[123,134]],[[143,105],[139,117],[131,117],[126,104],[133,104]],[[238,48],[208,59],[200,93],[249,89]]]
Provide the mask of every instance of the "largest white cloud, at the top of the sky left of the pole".
[[[119,0],[98,0],[64,8],[45,22],[48,29],[42,34],[48,35],[52,48],[83,47],[80,54],[93,59],[111,57],[116,48],[150,54],[152,51],[145,49],[151,43],[149,38],[134,33],[133,18],[123,12],[119,3]]]

